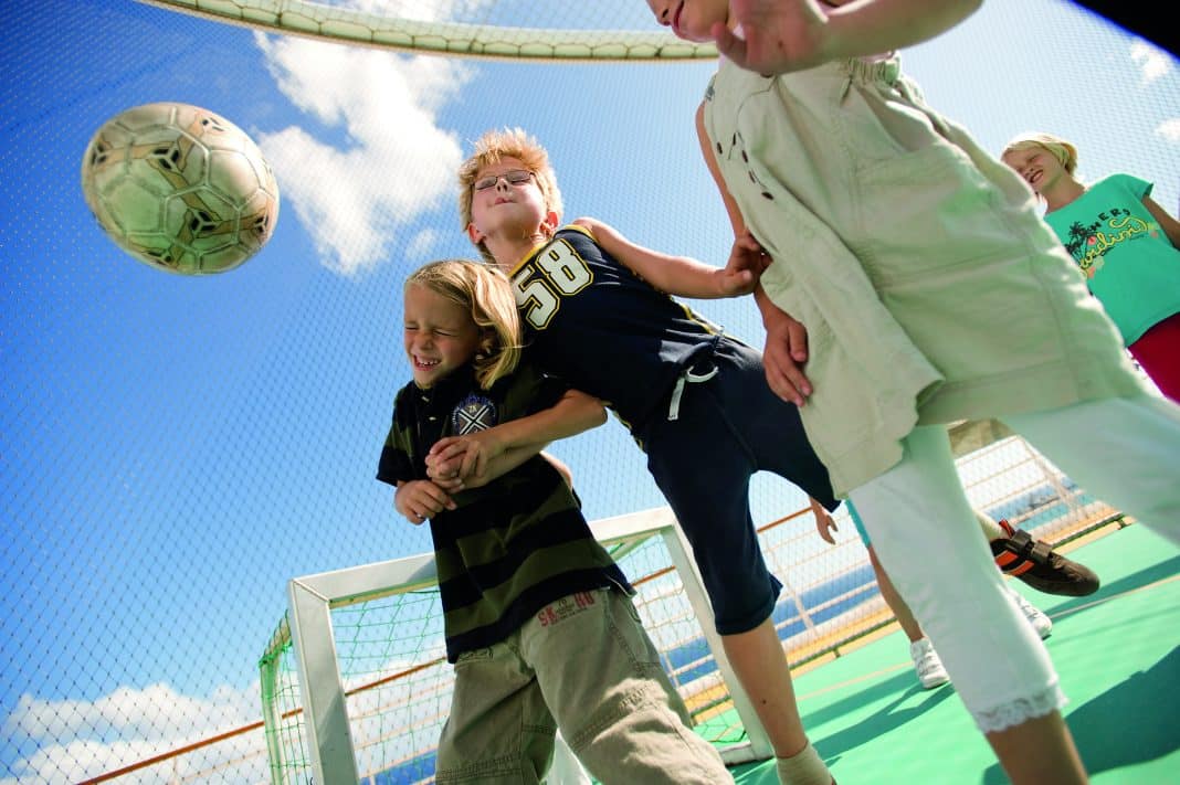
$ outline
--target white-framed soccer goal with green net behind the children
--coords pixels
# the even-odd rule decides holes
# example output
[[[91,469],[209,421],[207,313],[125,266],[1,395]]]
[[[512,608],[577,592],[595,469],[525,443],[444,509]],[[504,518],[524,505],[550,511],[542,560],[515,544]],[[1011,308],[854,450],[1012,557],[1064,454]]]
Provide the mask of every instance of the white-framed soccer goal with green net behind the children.
[[[694,714],[706,721],[723,704],[741,718],[747,738],[722,756],[768,757],[671,512],[592,528],[635,583],[644,625]],[[433,555],[291,580],[260,671],[274,781],[430,781],[452,687]],[[726,732],[714,740],[723,744]],[[552,773],[549,781],[558,785]]]

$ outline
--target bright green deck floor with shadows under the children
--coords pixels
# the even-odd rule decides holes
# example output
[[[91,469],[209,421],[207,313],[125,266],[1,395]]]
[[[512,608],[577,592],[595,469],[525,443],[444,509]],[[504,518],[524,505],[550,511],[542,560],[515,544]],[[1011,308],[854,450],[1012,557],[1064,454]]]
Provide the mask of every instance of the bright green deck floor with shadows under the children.
[[[1045,641],[1094,785],[1180,785],[1180,550],[1142,526],[1070,553],[1102,579],[1087,598],[1014,586],[1054,621]],[[898,631],[795,679],[804,724],[840,785],[1007,783],[948,685],[919,687]],[[776,785],[773,761],[733,768]]]

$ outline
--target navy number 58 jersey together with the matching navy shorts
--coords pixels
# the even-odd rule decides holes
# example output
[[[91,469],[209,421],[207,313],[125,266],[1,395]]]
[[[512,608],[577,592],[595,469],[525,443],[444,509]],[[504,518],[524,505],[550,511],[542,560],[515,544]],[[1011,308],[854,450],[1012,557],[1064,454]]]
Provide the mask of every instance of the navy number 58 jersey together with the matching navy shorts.
[[[762,558],[750,476],[773,471],[830,510],[840,503],[799,409],[766,383],[761,352],[722,335],[576,226],[511,277],[529,330],[525,356],[608,403],[647,451],[648,470],[693,545],[717,632],[756,627],[782,583]]]

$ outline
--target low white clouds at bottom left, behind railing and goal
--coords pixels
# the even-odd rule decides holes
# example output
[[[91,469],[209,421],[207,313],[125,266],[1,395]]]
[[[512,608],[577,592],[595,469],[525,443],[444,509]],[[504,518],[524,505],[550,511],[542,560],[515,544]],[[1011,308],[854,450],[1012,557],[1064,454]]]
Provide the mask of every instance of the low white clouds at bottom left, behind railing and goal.
[[[440,622],[430,622],[432,628]],[[345,678],[353,741],[366,771],[380,771],[391,760],[430,752],[451,705],[453,671],[441,658],[441,631],[431,633],[417,659],[395,658],[373,672]],[[422,668],[422,660],[432,662]],[[405,674],[386,681],[381,677]],[[299,687],[291,671],[277,672],[280,712],[295,708]],[[258,724],[260,682],[244,690],[221,686],[209,698],[178,693],[166,684],[144,688],[122,686],[94,701],[41,700],[20,697],[0,724],[0,732],[24,758],[7,766],[0,785],[46,783],[68,785],[151,760],[164,760],[129,772],[119,783],[229,781],[263,785],[270,781],[267,739]],[[288,764],[299,764],[306,751],[295,726],[302,715],[283,721],[278,744]],[[391,728],[395,728],[391,731]],[[228,735],[225,735],[228,734]],[[209,744],[210,739],[225,735]],[[201,744],[206,743],[206,744]],[[191,750],[185,747],[192,746]]]

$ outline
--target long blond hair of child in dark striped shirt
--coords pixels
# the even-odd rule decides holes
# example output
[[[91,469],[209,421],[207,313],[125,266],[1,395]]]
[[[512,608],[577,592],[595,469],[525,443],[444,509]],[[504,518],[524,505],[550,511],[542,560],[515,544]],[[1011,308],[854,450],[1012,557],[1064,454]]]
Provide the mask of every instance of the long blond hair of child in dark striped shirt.
[[[499,269],[467,259],[440,259],[412,272],[405,283],[409,286],[430,289],[471,315],[480,330],[479,350],[471,361],[480,388],[486,390],[516,370],[520,315],[512,284]]]

